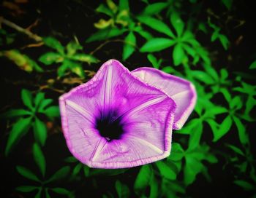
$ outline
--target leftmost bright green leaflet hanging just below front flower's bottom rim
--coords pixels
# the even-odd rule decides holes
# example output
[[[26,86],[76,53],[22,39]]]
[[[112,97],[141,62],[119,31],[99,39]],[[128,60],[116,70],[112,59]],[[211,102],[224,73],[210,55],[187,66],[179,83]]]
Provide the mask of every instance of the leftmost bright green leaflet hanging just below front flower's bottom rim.
[[[140,168],[140,172],[137,175],[137,178],[135,180],[135,184],[133,187],[133,189],[137,194],[140,194],[141,191],[146,189],[151,179],[151,174],[152,174],[151,165],[143,165]]]

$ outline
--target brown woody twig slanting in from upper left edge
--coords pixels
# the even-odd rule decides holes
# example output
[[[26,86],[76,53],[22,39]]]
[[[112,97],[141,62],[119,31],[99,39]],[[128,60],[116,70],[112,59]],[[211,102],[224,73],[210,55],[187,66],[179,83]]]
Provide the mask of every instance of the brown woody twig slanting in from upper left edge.
[[[15,29],[16,31],[19,31],[21,33],[26,34],[31,39],[34,39],[37,42],[42,41],[41,36],[38,36],[35,33],[31,33],[31,31],[29,31],[28,29],[22,28],[19,25],[16,25],[15,23],[12,23],[10,20],[5,19],[4,17],[0,17],[0,25],[1,25],[1,23],[3,23],[4,25],[9,26],[10,28]]]

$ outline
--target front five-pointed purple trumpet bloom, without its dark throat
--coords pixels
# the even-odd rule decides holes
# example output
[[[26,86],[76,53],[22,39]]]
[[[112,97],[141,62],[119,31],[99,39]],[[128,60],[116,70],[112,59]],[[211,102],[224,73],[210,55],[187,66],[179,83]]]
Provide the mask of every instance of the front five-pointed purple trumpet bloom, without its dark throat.
[[[174,101],[117,60],[104,63],[89,82],[62,95],[59,103],[69,150],[90,167],[133,167],[170,154]],[[124,124],[119,140],[106,140],[95,127],[97,117],[110,109]]]

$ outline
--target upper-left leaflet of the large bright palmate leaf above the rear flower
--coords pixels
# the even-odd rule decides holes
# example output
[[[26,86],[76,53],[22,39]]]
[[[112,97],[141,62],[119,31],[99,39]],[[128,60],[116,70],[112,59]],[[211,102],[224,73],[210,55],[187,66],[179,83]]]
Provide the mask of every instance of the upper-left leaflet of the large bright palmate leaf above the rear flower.
[[[144,23],[145,25],[148,25],[148,27],[159,31],[160,33],[165,33],[167,36],[170,36],[172,38],[175,38],[173,32],[170,30],[170,28],[163,23],[161,20],[157,20],[154,17],[149,17],[149,16],[138,16],[138,20],[141,23]]]

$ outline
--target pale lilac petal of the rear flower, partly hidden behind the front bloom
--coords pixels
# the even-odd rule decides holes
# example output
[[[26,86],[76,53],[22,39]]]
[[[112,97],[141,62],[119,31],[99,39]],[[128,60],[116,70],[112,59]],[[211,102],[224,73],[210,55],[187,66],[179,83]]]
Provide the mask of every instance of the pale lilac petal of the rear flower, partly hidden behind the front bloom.
[[[193,84],[155,68],[138,68],[132,74],[163,90],[175,101],[173,129],[180,130],[195,107],[197,95]]]

